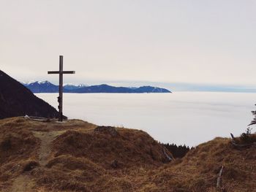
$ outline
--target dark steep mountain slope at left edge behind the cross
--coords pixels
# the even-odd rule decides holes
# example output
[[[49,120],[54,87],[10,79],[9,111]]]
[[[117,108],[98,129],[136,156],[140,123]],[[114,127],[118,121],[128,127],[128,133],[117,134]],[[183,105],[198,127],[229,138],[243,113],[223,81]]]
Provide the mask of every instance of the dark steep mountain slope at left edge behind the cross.
[[[0,70],[0,119],[24,115],[56,118],[58,112]]]

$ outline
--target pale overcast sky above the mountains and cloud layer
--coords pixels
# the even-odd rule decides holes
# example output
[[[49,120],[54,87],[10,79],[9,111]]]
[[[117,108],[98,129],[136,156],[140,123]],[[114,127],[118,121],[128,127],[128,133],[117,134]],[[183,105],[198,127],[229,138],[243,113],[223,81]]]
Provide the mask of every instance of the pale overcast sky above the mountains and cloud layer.
[[[17,80],[256,85],[256,1],[0,0],[0,69]]]

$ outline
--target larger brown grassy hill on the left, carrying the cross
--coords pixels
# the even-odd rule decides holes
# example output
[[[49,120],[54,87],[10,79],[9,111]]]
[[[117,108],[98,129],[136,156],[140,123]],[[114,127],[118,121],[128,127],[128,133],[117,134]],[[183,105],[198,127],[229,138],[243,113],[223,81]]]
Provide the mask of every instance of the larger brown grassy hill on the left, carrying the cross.
[[[144,173],[168,161],[162,150],[139,130],[4,119],[0,190],[132,191]]]

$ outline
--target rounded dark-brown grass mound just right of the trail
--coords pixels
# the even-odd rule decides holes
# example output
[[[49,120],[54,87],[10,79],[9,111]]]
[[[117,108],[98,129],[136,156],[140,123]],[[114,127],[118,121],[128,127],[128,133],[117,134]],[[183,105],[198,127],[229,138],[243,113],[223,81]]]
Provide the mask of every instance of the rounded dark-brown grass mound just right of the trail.
[[[162,146],[148,134],[124,128],[118,128],[116,137],[95,131],[67,131],[53,142],[53,156],[59,155],[88,158],[105,169],[111,169],[111,163],[115,160],[121,169],[159,166],[165,161]]]

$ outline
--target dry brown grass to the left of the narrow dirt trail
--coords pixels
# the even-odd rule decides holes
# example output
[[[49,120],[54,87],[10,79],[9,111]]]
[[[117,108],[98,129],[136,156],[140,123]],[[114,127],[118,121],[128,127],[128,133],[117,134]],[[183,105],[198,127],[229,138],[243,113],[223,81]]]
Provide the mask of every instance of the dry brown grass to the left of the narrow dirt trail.
[[[26,128],[26,120],[0,120],[0,188],[9,187],[12,179],[37,161],[39,139]]]

